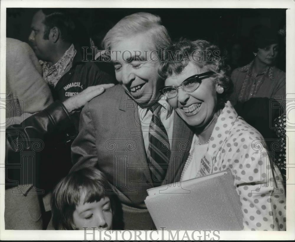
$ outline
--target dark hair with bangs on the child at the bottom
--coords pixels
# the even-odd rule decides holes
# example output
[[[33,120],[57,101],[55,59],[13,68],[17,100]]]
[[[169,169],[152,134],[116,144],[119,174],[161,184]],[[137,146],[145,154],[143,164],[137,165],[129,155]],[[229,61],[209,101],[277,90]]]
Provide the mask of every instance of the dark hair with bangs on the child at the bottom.
[[[83,168],[68,174],[53,191],[51,209],[55,229],[78,229],[73,213],[80,203],[81,188],[86,192],[84,203],[98,202],[101,198],[108,197],[114,214],[112,187],[105,175],[96,168]]]

